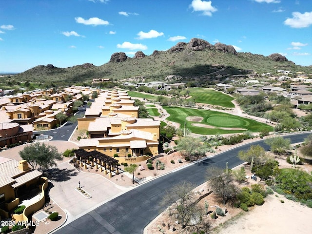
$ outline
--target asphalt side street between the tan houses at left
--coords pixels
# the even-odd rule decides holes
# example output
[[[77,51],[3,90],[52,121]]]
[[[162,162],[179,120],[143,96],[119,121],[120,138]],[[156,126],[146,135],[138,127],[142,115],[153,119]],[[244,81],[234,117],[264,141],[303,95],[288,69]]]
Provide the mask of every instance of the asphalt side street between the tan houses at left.
[[[86,108],[87,108],[87,105],[78,107],[78,112],[75,116],[78,118],[84,117]],[[72,135],[76,127],[77,127],[77,123],[67,122],[60,128],[52,129],[48,131],[36,131],[34,133],[52,136],[53,137],[52,140],[68,141],[69,137]]]

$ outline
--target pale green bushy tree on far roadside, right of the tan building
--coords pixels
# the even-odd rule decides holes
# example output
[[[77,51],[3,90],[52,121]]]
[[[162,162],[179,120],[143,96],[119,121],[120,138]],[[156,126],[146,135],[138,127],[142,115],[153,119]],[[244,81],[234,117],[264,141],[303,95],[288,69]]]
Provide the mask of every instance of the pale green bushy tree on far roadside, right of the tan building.
[[[182,137],[176,149],[181,151],[182,155],[189,157],[191,161],[195,161],[206,156],[206,152],[210,151],[211,147],[203,144],[200,137]]]

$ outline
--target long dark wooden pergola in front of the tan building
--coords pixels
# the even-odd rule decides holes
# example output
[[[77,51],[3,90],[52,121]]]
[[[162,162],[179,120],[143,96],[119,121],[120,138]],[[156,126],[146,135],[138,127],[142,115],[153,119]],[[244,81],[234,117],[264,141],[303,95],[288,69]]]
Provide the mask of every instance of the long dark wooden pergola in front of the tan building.
[[[82,161],[84,162],[85,164],[88,163],[89,161],[89,158],[91,157],[92,158],[92,161],[98,163],[99,161],[99,164],[102,165],[103,163],[103,166],[105,168],[105,170],[107,169],[106,167],[108,166],[108,169],[110,172],[112,172],[112,167],[113,168],[116,168],[118,170],[118,160],[113,158],[113,157],[110,157],[110,156],[107,156],[107,155],[104,155],[96,150],[93,150],[93,151],[85,151],[83,149],[78,149],[78,150],[74,150],[73,151],[77,157],[77,159],[79,161]]]

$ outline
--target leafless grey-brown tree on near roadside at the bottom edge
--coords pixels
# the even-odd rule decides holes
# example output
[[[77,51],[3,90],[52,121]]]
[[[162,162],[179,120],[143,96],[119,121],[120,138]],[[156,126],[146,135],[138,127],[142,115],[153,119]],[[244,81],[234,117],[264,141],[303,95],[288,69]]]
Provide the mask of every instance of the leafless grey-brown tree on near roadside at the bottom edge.
[[[181,228],[187,233],[209,232],[210,225],[201,218],[203,209],[195,201],[195,186],[188,181],[181,181],[166,191],[160,206],[168,207],[169,215],[174,215]]]

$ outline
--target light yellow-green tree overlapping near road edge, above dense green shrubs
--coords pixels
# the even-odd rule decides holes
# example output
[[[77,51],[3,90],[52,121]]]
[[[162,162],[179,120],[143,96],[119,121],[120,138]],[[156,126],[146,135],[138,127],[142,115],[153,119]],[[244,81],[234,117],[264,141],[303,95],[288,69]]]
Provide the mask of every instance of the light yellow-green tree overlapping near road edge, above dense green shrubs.
[[[240,160],[246,161],[249,164],[251,164],[252,160],[254,160],[254,165],[262,165],[269,158],[265,149],[260,145],[252,145],[249,150],[239,151],[238,157]]]

